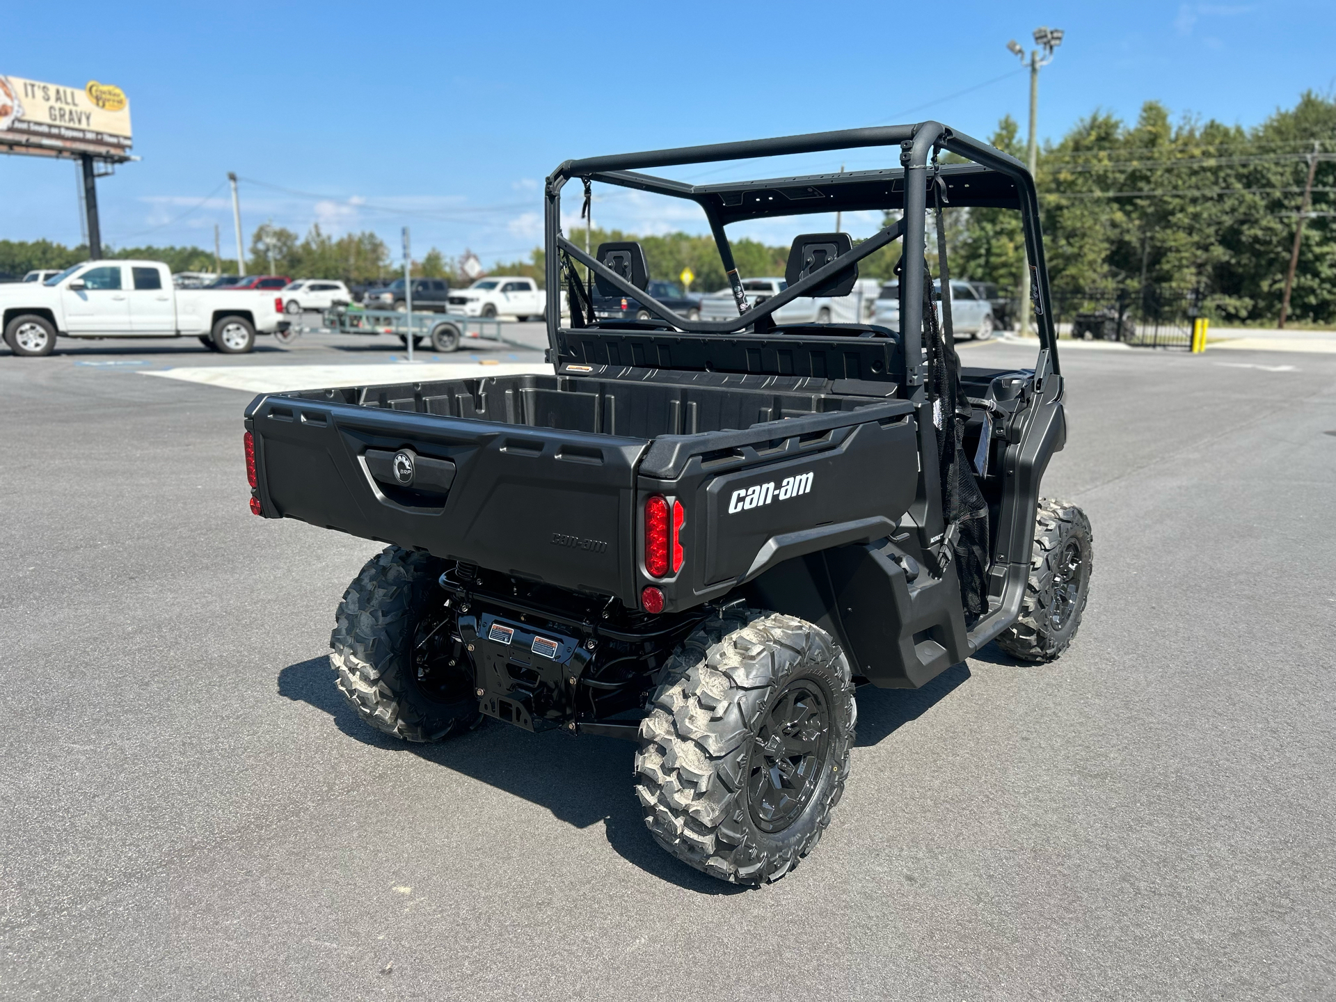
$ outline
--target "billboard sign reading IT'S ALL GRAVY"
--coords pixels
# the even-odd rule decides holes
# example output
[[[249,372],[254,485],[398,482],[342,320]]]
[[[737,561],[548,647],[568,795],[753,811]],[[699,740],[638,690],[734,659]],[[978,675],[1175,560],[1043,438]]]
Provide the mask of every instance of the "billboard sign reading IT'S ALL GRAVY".
[[[130,146],[130,100],[119,87],[0,76],[0,152],[124,160]]]

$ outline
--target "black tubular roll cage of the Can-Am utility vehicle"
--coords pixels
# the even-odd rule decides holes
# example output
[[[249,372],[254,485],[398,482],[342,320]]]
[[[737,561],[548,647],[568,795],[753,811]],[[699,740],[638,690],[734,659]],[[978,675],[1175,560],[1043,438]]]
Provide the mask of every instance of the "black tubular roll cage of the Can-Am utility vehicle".
[[[815,174],[794,178],[728,182],[721,184],[688,184],[639,171],[655,167],[687,166],[720,160],[741,160],[790,154],[852,150],[859,147],[899,147],[898,168],[854,171],[848,174]],[[970,163],[941,164],[942,151],[957,154]],[[636,287],[621,275],[601,265],[561,232],[561,190],[573,178],[582,182],[601,182],[625,188],[649,191],[681,198],[701,207],[709,222],[719,257],[733,294],[741,297],[740,278],[733,263],[732,246],[724,227],[744,219],[804,215],[835,211],[902,211],[902,218],[859,243],[852,253],[812,271],[783,293],[763,305],[740,311],[736,319],[691,321]],[[1057,373],[1058,357],[1053,329],[1047,271],[1039,231],[1038,198],[1034,179],[1025,166],[1013,156],[981,143],[962,132],[955,132],[938,122],[914,126],[883,126],[854,128],[838,132],[812,132],[776,139],[754,139],[737,143],[656,150],[639,154],[616,154],[566,160],[553,171],[545,184],[544,232],[546,243],[546,287],[561,289],[562,257],[577,261],[595,275],[633,295],[659,317],[688,335],[743,334],[759,319],[771,317],[794,299],[810,295],[828,278],[846,271],[851,263],[862,261],[876,250],[903,238],[903,287],[923,286],[927,227],[926,210],[933,199],[942,196],[943,206],[978,206],[1015,208],[1021,212],[1025,244],[1031,275],[1031,297],[1039,334],[1039,361],[1037,378],[1042,382],[1047,373]],[[561,358],[561,297],[548,297],[548,342],[553,361]],[[923,303],[918,295],[906,295],[900,310],[900,337],[904,359],[906,386],[919,386],[925,381]],[[677,335],[680,337],[680,334]],[[745,335],[744,335],[745,337]],[[836,335],[838,337],[838,335]]]

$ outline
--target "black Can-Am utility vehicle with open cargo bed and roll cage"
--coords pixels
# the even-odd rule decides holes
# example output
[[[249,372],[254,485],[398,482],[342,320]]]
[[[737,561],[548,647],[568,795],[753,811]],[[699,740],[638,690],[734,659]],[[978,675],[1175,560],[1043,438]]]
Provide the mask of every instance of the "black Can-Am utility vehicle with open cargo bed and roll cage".
[[[898,166],[641,172],[851,147]],[[637,244],[592,257],[566,239],[572,180],[699,204],[740,315],[681,317],[645,291]],[[553,373],[258,397],[251,509],[391,544],[331,637],[366,723],[410,741],[481,716],[632,739],[653,838],[721,879],[774,880],[839,803],[855,685],[915,688],[993,640],[1046,661],[1075,635],[1092,540],[1078,508],[1039,497],[1066,426],[1034,183],[926,122],[569,160],[545,195],[546,287],[570,306],[562,326],[548,299]],[[1034,369],[962,369],[950,302],[931,305],[926,215],[969,206],[1021,212]],[[747,303],[728,223],[868,210],[903,219],[856,248],[799,235],[787,289]],[[900,238],[902,330],[775,322],[796,297],[847,293]],[[591,285],[655,317],[599,321]]]

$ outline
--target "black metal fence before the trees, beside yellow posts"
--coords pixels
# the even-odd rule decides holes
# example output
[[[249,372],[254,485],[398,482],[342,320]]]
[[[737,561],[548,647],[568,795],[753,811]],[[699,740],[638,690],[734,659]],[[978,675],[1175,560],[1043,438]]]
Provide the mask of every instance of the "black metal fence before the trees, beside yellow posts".
[[[1166,286],[1054,293],[1053,322],[1058,337],[1190,351],[1192,325],[1202,303],[1198,290]]]

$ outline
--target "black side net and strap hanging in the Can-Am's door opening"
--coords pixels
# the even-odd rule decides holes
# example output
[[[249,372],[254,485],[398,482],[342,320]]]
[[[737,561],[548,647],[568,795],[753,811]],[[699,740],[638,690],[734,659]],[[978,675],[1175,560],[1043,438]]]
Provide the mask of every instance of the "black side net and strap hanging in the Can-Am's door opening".
[[[946,231],[942,224],[942,202],[946,186],[937,186],[938,270],[942,281],[942,321],[934,309],[933,277],[923,269],[923,326],[927,343],[927,391],[933,401],[933,425],[937,428],[938,472],[942,474],[942,514],[946,537],[942,556],[955,557],[961,578],[961,601],[965,615],[978,617],[989,611],[989,502],[965,454],[965,424],[970,405],[961,393],[961,357],[955,353],[951,330],[951,275],[946,263]],[[945,325],[945,330],[943,330]],[[943,560],[945,565],[945,560]]]

